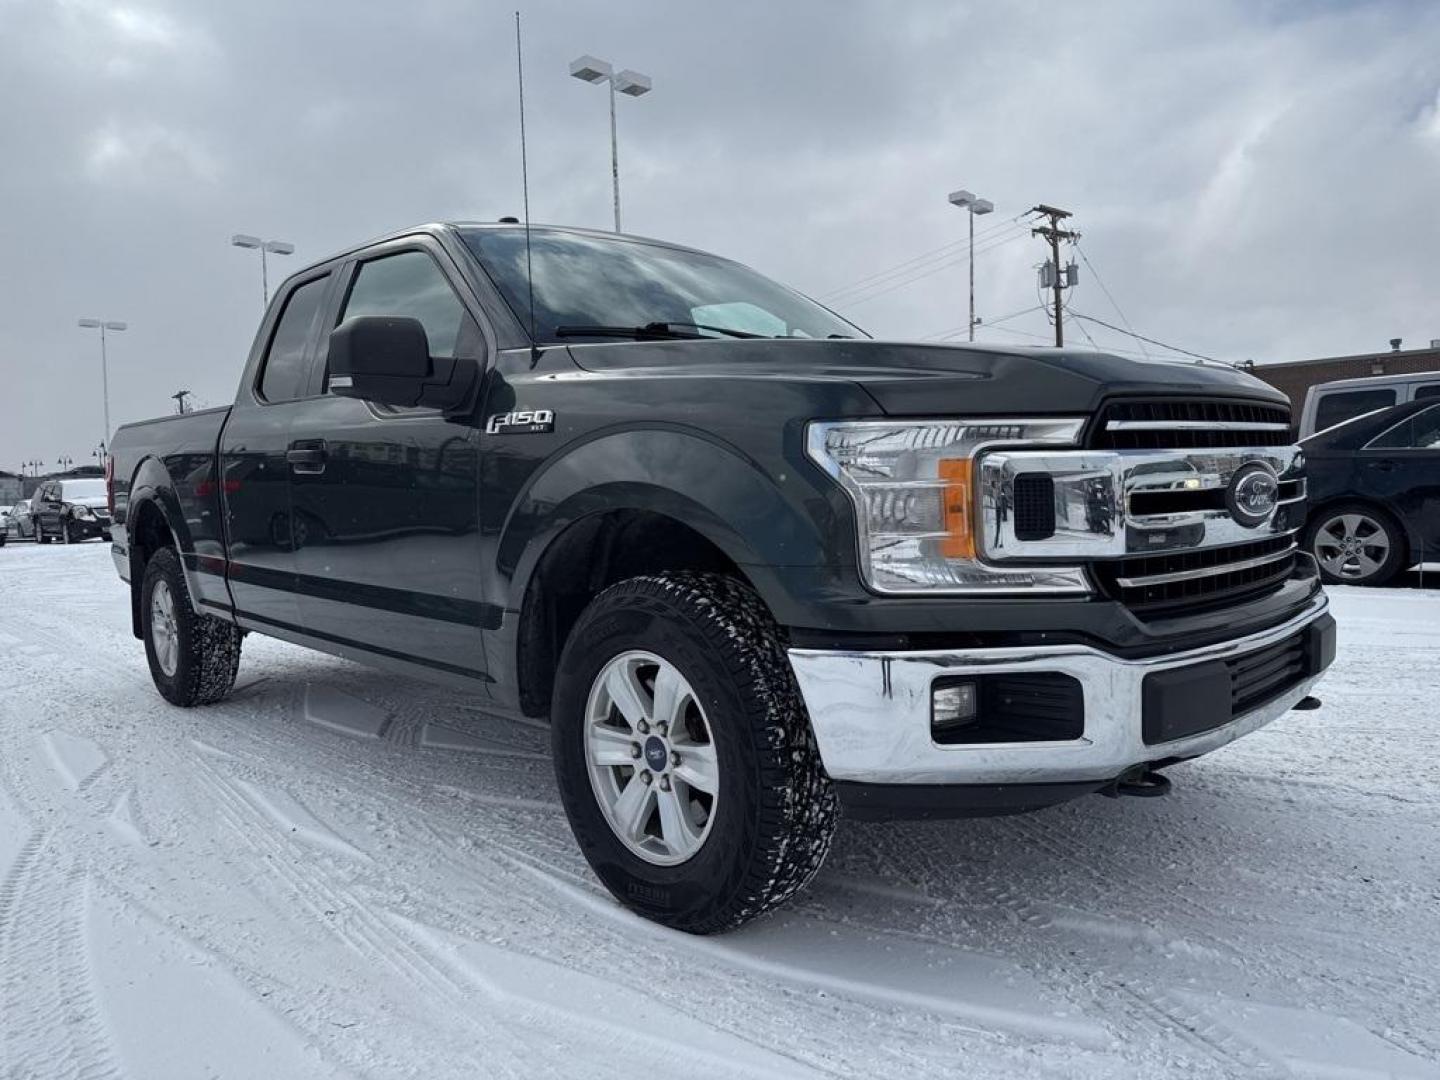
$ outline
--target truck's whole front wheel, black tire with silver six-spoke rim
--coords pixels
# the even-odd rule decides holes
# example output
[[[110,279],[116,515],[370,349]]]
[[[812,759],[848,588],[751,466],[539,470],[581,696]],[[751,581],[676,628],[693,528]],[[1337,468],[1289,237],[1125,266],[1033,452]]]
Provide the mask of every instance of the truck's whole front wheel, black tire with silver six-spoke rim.
[[[838,816],[779,628],[720,575],[632,577],[580,615],[552,708],[560,798],[615,897],[714,933],[819,870]]]

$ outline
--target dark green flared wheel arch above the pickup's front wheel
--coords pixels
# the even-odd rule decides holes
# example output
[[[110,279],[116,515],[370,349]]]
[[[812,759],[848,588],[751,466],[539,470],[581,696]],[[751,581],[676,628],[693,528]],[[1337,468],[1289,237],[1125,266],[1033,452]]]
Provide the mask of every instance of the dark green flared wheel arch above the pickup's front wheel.
[[[497,549],[497,567],[510,579],[505,606],[520,608],[544,549],[570,524],[645,510],[704,536],[744,569],[785,622],[795,609],[788,569],[852,562],[841,500],[808,462],[759,462],[704,432],[600,432],[543,465],[516,500]]]

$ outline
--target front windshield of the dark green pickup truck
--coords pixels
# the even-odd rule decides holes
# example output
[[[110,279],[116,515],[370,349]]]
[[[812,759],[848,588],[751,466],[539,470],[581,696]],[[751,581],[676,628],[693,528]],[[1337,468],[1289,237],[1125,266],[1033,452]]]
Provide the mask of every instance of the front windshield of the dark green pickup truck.
[[[524,230],[461,229],[459,235],[516,318],[528,325]],[[531,229],[530,246],[534,338],[541,344],[615,340],[615,333],[583,331],[658,324],[694,337],[864,336],[799,292],[714,255],[550,229]]]

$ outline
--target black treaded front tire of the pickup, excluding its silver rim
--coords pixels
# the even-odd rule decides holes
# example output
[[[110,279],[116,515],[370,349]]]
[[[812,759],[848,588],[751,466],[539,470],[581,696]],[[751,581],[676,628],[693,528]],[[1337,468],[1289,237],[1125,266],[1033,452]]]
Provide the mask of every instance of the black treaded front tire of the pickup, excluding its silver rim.
[[[713,729],[719,762],[714,819],[677,865],[632,852],[600,808],[586,762],[592,684],[622,652],[674,665]],[[744,583],[674,573],[613,585],[582,612],[560,655],[552,750],[570,828],[615,897],[665,926],[716,933],[789,900],[829,851],[838,802],[821,768],[809,717],[779,628]]]

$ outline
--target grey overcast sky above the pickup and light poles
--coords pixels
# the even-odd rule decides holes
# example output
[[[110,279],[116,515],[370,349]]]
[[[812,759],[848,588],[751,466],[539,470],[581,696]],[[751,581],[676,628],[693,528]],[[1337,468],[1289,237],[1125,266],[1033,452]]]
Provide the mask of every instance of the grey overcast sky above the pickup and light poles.
[[[518,215],[514,4],[0,0],[0,468],[230,400],[272,279],[422,220]],[[1139,333],[1224,360],[1440,338],[1440,4],[526,3],[530,206],[739,258],[884,337],[1037,304],[1037,202]],[[909,264],[900,274],[850,288]],[[1070,302],[1119,324],[1090,266]],[[848,291],[842,291],[848,289]],[[1094,341],[1136,348],[1089,325]],[[1076,341],[1084,343],[1070,328]],[[962,333],[962,331],[960,331]],[[1030,344],[1038,311],[981,333]]]

